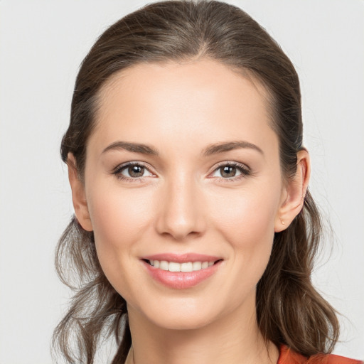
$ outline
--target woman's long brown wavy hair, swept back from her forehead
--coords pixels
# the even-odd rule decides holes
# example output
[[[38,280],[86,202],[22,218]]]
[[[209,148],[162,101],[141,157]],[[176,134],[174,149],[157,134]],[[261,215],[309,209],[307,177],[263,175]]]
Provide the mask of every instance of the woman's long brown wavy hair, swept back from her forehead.
[[[112,75],[142,63],[196,59],[216,60],[264,85],[279,138],[282,176],[292,178],[297,152],[303,149],[299,77],[264,28],[236,6],[219,1],[148,4],[102,33],[77,75],[70,125],[60,149],[63,161],[73,154],[83,178],[100,90]],[[336,311],[311,284],[321,230],[318,209],[307,191],[299,215],[274,235],[272,255],[257,284],[257,324],[265,340],[307,357],[330,353],[338,340]],[[60,237],[55,264],[75,295],[55,328],[53,348],[68,363],[91,364],[101,341],[114,338],[112,364],[124,363],[132,343],[126,301],[102,272],[93,232],[83,230],[75,216]]]

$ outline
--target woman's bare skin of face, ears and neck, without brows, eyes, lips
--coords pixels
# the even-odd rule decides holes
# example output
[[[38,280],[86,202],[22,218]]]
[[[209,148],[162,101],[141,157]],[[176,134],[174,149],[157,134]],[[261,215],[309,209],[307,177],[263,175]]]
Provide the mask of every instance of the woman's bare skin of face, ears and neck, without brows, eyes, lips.
[[[264,345],[257,327],[255,290],[274,232],[302,208],[309,155],[300,151],[296,176],[282,177],[264,87],[214,60],[191,60],[124,70],[108,80],[100,100],[85,182],[72,154],[69,176],[77,219],[94,231],[102,269],[127,301],[128,363],[276,363],[277,348]],[[159,156],[105,151],[117,141],[149,144]],[[201,155],[229,141],[260,151]],[[145,164],[142,178],[133,179],[127,168],[113,173],[129,161]],[[223,176],[231,162],[250,173],[232,168],[232,177]],[[197,286],[173,289],[141,262],[166,252],[223,262]]]

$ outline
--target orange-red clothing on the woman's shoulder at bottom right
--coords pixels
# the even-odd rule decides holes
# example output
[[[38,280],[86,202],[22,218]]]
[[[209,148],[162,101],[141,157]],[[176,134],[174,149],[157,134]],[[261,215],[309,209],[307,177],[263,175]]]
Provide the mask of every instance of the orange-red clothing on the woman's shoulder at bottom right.
[[[334,354],[318,354],[307,358],[282,345],[277,364],[364,364],[364,362]]]

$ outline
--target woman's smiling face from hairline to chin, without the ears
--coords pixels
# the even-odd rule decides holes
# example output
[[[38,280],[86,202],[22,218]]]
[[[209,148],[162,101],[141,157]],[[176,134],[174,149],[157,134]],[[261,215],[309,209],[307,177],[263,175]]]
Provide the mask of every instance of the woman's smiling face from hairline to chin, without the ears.
[[[100,100],[79,220],[129,315],[165,328],[254,315],[287,199],[264,89],[198,60],[124,70]]]

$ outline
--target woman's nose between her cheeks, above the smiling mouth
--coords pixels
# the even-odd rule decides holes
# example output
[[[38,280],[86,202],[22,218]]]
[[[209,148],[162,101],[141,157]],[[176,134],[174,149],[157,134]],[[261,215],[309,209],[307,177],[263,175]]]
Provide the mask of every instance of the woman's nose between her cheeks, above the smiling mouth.
[[[159,194],[156,230],[174,240],[199,236],[205,230],[202,193],[191,176],[165,181]]]

